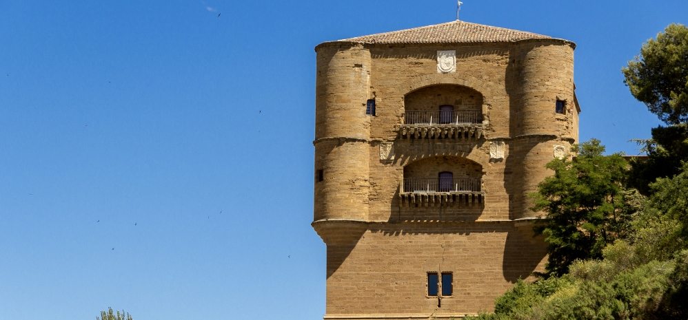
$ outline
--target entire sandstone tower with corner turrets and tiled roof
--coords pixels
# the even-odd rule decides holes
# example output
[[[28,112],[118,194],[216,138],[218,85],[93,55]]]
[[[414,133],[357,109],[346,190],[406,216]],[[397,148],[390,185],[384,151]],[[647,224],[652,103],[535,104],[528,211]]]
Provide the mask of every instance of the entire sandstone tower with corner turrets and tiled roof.
[[[574,47],[457,20],[315,48],[325,319],[460,318],[543,270],[529,193],[578,141]]]

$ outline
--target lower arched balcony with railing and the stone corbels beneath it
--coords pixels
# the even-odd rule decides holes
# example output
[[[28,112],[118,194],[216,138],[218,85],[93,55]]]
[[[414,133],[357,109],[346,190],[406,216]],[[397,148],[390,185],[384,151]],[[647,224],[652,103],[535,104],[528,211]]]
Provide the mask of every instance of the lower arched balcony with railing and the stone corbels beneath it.
[[[399,195],[402,206],[472,206],[483,204],[483,168],[465,158],[441,156],[404,167]]]

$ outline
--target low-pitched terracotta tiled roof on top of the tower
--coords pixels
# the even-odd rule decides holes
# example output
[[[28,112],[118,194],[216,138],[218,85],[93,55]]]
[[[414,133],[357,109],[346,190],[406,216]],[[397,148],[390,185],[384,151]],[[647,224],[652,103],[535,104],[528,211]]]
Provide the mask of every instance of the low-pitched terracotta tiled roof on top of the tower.
[[[452,21],[406,30],[357,36],[339,41],[361,43],[486,43],[526,39],[552,39],[549,36],[466,21]]]

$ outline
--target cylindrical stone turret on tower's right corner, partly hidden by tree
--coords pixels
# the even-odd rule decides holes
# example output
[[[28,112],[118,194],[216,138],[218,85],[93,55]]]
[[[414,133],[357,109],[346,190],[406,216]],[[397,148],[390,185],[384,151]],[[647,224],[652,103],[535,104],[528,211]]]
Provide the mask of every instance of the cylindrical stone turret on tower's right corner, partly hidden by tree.
[[[543,41],[544,42],[544,41]],[[522,43],[520,109],[515,136],[510,149],[512,161],[520,160],[521,172],[516,174],[516,195],[512,219],[536,217],[530,208],[530,197],[537,191],[538,183],[547,175],[545,165],[554,158],[554,147],[570,144],[559,137],[575,136],[571,131],[571,117],[574,112],[557,113],[557,103],[574,106],[574,48],[570,43],[552,41],[551,43]],[[574,109],[575,110],[575,109]]]

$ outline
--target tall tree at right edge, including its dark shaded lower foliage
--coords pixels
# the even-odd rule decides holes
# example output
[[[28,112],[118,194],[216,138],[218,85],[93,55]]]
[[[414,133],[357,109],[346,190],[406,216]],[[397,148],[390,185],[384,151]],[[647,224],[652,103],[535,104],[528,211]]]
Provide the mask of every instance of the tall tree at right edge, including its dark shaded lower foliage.
[[[631,162],[629,184],[647,195],[649,184],[680,172],[688,160],[688,28],[669,25],[622,71],[631,94],[669,125],[641,141],[647,159]]]

